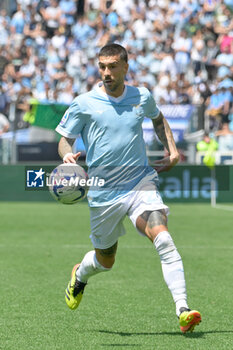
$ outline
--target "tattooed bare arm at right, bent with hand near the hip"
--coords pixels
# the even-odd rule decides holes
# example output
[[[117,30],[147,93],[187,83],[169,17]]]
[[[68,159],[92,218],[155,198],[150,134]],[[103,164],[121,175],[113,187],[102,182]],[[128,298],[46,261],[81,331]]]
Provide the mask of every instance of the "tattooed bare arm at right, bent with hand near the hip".
[[[169,156],[155,162],[156,170],[158,172],[168,171],[179,161],[179,153],[176,148],[173,134],[168,122],[161,112],[158,118],[153,119],[152,121],[159,140],[169,153]]]

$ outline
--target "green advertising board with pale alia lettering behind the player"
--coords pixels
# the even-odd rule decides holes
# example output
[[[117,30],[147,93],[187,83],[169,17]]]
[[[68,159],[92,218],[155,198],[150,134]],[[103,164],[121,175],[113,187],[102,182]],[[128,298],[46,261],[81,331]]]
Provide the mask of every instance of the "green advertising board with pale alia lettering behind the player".
[[[0,201],[51,201],[48,177],[58,164],[0,166]],[[161,173],[159,184],[165,203],[210,202],[213,178],[206,166],[180,165]],[[214,187],[217,202],[233,202],[233,166],[215,167]]]

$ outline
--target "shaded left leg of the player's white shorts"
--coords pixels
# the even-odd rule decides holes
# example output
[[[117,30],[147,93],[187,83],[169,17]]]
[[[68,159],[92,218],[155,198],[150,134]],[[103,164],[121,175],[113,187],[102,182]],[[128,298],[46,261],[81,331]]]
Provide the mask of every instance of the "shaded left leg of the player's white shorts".
[[[117,202],[113,205],[90,208],[91,217],[91,241],[97,249],[107,249],[125,234],[123,219],[127,208],[124,203]]]

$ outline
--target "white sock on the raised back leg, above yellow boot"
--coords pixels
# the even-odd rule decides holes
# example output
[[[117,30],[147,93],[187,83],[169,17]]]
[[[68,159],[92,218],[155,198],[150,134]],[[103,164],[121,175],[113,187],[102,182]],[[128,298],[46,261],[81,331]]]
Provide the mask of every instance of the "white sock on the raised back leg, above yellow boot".
[[[80,282],[87,283],[89,277],[94,276],[99,272],[109,270],[111,270],[111,268],[102,266],[96,258],[95,251],[91,250],[84,256],[78,270],[76,271],[76,276]]]

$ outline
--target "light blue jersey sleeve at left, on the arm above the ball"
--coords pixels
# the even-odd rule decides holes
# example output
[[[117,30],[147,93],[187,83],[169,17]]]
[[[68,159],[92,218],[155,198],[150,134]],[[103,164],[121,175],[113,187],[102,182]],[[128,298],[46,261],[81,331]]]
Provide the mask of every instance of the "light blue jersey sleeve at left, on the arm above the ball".
[[[66,110],[55,130],[62,136],[75,139],[83,130],[86,124],[86,117],[75,99]]]

